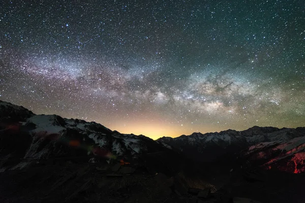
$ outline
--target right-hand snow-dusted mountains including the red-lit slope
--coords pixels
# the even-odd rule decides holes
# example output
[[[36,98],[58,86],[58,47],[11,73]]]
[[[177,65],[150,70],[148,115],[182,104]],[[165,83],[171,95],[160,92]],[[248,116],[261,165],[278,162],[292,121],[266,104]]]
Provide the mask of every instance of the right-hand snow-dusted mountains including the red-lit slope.
[[[267,169],[305,172],[305,127],[254,126],[243,131],[229,129],[177,138],[163,137],[157,142],[198,161],[215,161],[229,156],[231,160],[233,156],[233,159],[255,161]]]

